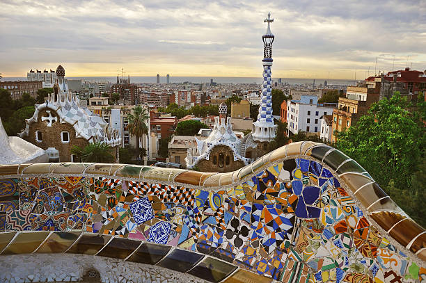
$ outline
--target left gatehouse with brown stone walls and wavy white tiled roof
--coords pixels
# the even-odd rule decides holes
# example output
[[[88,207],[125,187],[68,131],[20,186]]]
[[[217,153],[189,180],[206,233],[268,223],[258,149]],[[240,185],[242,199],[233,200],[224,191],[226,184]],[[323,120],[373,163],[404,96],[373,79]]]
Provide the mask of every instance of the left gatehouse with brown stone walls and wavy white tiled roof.
[[[65,70],[61,65],[56,69],[57,79],[54,93],[49,94],[44,104],[36,104],[33,117],[26,121],[26,127],[19,134],[21,138],[41,147],[52,148],[59,153],[61,162],[74,161],[71,149],[74,145],[85,147],[89,143],[103,142],[116,148],[121,137],[118,131],[108,127],[107,122],[82,108],[79,99],[72,94],[65,81]]]

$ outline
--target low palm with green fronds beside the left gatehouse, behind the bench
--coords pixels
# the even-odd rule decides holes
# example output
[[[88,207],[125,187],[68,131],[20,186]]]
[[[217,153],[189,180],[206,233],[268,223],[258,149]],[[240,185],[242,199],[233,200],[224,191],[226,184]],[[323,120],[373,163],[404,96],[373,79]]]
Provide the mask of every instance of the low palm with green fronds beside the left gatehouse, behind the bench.
[[[81,162],[113,163],[116,160],[113,147],[103,142],[89,143],[84,148],[74,145],[71,154]]]

